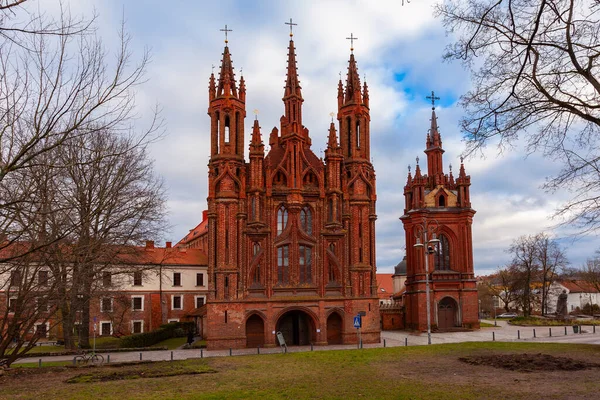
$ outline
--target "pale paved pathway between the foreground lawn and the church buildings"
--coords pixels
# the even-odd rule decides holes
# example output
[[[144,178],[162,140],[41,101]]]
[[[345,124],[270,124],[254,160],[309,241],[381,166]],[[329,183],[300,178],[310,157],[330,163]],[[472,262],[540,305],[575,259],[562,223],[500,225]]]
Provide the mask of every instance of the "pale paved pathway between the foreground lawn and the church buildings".
[[[486,321],[488,323],[494,323],[494,321]],[[431,343],[459,343],[459,342],[483,342],[492,341],[495,337],[496,341],[502,342],[523,342],[523,341],[537,341],[537,342],[555,342],[555,343],[588,343],[588,344],[600,344],[600,326],[596,327],[596,332],[591,326],[584,326],[583,333],[574,334],[573,328],[567,327],[567,334],[565,335],[564,327],[552,327],[552,332],[549,331],[548,327],[536,327],[535,337],[534,328],[532,327],[520,327],[508,325],[506,321],[497,321],[498,327],[496,328],[482,328],[478,331],[471,332],[446,332],[446,333],[432,333]],[[550,336],[552,333],[552,336]],[[520,339],[519,339],[520,335]],[[365,344],[364,348],[377,348],[377,347],[397,347],[397,346],[420,346],[427,344],[426,333],[414,333],[408,331],[383,331],[381,333],[381,343]],[[344,350],[344,349],[356,349],[357,345],[329,345],[329,346],[294,346],[289,347],[288,352],[305,352],[305,351],[326,351],[326,350]],[[156,351],[145,351],[145,352],[121,352],[121,353],[110,353],[110,352],[99,352],[104,356],[105,362],[110,358],[110,362],[132,362],[132,361],[168,361],[171,360],[185,360],[189,358],[200,358],[200,357],[227,357],[230,355],[250,355],[257,354],[258,349],[234,349],[231,350],[156,350]],[[261,348],[260,354],[275,354],[281,353],[279,347],[276,348]],[[15,363],[31,363],[42,360],[42,364],[51,361],[71,361],[73,356],[52,356],[52,357],[28,357],[17,360]]]

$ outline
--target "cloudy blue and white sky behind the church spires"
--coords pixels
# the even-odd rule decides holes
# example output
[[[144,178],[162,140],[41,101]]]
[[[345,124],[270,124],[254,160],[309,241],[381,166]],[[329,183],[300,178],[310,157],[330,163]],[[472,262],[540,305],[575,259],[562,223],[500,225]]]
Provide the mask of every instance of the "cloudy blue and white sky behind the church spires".
[[[33,0],[36,2],[36,0]],[[147,83],[137,94],[140,123],[158,103],[166,137],[152,149],[156,170],[169,191],[170,232],[166,240],[181,239],[200,220],[206,208],[209,156],[208,77],[218,66],[225,24],[236,74],[246,80],[246,142],[252,110],[259,110],[263,137],[278,126],[283,113],[283,84],[290,17],[298,24],[294,41],[304,96],[304,124],[313,151],[326,146],[329,113],[337,110],[337,80],[345,73],[350,54],[346,37],[353,33],[361,76],[366,74],[371,106],[371,147],[377,173],[377,268],[392,272],[404,255],[403,186],[407,167],[425,159],[425,136],[432,90],[442,135],[444,165],[457,171],[464,150],[457,101],[470,87],[469,75],[457,64],[442,61],[451,35],[432,16],[434,0],[392,1],[164,1],[65,0],[71,12],[98,15],[98,34],[107,51],[117,44],[125,19],[132,36],[134,57],[150,49]],[[36,7],[53,13],[57,0],[38,0]],[[247,146],[246,146],[247,147]],[[247,151],[247,149],[246,149]],[[540,186],[558,165],[538,155],[526,157],[522,148],[497,155],[493,143],[485,157],[465,160],[471,175],[471,200],[477,214],[473,224],[475,272],[487,274],[506,264],[506,249],[520,235],[546,231],[579,266],[600,247],[596,237],[573,238],[566,228],[552,229],[549,219],[568,193],[545,193]]]

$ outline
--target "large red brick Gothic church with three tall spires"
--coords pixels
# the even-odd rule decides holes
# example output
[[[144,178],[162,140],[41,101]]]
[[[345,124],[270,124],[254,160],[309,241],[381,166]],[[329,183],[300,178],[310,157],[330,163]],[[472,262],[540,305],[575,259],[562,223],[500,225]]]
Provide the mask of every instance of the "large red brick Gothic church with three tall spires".
[[[244,157],[246,86],[236,82],[227,41],[209,80],[209,349],[379,342],[375,279],[375,171],[370,162],[369,93],[354,54],[338,83],[338,130],[325,159],[311,150],[290,34],[279,128],[265,154],[254,120]]]

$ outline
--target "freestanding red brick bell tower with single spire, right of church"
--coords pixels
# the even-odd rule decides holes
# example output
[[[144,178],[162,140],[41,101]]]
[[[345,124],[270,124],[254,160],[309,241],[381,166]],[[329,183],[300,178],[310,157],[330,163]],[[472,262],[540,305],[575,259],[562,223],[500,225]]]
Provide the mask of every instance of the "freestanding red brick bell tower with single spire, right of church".
[[[444,174],[442,139],[432,100],[431,127],[425,154],[427,174],[421,173],[419,158],[415,176],[408,172],[404,187],[405,208],[400,220],[406,235],[406,326],[427,330],[425,257],[429,267],[430,315],[432,330],[479,328],[477,288],[473,272],[471,225],[475,210],[471,208],[471,177],[465,173],[461,158],[458,178]],[[423,228],[427,229],[432,251],[425,254]],[[435,236],[434,236],[435,235]],[[419,240],[419,241],[418,241]]]

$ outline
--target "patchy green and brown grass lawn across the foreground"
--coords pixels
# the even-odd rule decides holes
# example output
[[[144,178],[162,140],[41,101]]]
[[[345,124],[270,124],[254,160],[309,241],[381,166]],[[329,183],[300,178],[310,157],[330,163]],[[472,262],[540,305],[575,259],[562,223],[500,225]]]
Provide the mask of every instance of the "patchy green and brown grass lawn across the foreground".
[[[22,369],[28,373],[21,375],[5,375],[0,386],[2,397],[25,399],[597,398],[598,368],[523,373],[459,360],[526,352],[588,362],[600,359],[600,346],[594,345],[472,342],[31,368]]]

